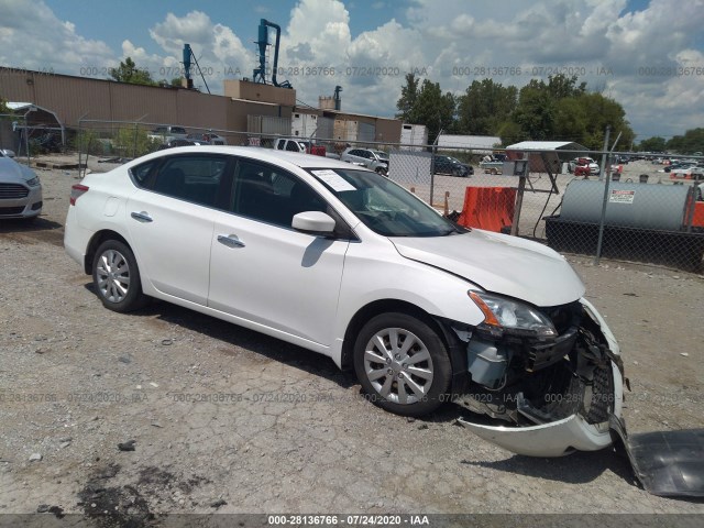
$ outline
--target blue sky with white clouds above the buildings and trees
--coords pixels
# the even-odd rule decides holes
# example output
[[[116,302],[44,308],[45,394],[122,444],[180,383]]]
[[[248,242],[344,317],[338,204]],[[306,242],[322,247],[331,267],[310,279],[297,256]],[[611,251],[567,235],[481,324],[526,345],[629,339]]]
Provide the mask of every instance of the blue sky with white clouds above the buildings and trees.
[[[299,68],[283,78],[311,105],[341,85],[343,109],[388,117],[407,72],[455,95],[566,73],[620,102],[638,139],[704,113],[704,0],[0,0],[0,13],[3,66],[105,78],[131,56],[158,79],[187,42],[221,94],[252,75],[265,18],[283,29],[279,66]]]

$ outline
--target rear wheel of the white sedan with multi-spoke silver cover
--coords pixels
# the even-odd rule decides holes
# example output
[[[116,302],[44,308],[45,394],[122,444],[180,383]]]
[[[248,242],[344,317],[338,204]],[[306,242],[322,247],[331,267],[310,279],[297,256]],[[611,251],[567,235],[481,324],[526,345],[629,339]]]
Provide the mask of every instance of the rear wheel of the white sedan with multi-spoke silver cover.
[[[107,240],[92,260],[92,283],[102,306],[127,312],[142,308],[147,297],[142,293],[140,270],[134,253],[118,240]]]

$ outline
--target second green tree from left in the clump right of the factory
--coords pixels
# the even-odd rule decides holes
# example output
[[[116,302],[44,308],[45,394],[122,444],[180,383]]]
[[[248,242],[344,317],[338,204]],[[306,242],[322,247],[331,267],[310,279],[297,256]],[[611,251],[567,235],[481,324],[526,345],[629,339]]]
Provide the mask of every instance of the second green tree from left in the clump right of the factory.
[[[494,135],[516,108],[518,89],[493,79],[474,80],[458,98],[458,131]]]

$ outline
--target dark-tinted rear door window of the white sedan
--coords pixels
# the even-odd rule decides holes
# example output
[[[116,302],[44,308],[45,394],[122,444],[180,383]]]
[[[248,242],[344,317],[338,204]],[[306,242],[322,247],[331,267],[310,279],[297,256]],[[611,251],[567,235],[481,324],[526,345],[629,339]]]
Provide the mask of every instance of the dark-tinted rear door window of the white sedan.
[[[224,156],[189,155],[167,158],[152,182],[151,190],[201,206],[227,208],[223,197]],[[222,185],[221,185],[222,184]]]

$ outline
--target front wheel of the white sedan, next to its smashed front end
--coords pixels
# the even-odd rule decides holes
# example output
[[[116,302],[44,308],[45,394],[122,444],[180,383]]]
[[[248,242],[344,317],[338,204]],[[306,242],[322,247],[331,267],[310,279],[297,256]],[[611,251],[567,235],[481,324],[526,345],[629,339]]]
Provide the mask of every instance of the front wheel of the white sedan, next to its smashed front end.
[[[382,314],[364,324],[354,343],[354,371],[372,403],[402,416],[440,407],[452,377],[442,340],[407,314]]]

